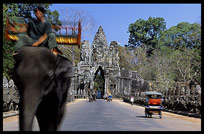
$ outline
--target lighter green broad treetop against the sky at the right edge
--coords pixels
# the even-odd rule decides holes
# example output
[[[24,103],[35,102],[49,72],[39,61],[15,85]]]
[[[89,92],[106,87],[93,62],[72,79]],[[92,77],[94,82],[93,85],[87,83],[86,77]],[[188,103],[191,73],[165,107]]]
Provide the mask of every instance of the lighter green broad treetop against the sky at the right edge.
[[[177,26],[165,30],[161,34],[159,44],[173,49],[186,47],[201,49],[201,25],[181,22]]]

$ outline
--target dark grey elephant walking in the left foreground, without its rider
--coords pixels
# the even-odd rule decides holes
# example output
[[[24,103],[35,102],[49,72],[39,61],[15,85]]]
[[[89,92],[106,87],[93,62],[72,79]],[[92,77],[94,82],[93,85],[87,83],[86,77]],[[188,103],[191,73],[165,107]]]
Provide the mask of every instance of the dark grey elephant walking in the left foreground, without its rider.
[[[72,63],[46,47],[22,47],[14,59],[20,131],[31,131],[35,116],[40,131],[57,131],[73,77]]]

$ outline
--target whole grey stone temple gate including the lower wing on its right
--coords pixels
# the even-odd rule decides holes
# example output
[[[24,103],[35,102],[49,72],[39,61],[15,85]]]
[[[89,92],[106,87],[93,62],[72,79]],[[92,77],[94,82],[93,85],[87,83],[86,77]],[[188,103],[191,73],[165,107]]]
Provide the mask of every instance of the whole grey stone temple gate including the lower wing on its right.
[[[140,78],[137,72],[122,70],[119,67],[118,43],[111,41],[108,46],[105,33],[100,26],[90,46],[89,41],[82,42],[80,62],[74,69],[72,89],[75,95],[86,95],[88,90],[94,89],[94,78],[98,71],[104,78],[103,93],[117,96],[129,94],[133,83],[138,83]]]

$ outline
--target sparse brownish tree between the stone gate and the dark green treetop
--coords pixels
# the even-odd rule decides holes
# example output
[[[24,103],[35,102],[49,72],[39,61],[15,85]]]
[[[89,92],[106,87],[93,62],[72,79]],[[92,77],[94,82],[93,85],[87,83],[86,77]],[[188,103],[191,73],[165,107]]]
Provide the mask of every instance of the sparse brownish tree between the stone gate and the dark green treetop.
[[[120,68],[137,71],[139,76],[145,80],[155,80],[155,69],[149,63],[146,50],[147,45],[145,44],[133,50],[118,46]]]

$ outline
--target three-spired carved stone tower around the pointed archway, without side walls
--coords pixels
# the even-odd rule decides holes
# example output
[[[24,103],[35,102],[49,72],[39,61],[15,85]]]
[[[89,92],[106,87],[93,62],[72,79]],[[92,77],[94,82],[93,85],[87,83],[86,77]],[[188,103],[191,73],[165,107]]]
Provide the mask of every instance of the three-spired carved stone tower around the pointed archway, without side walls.
[[[108,46],[106,36],[100,26],[93,40],[83,41],[78,64],[78,81],[84,84],[84,89],[94,88],[94,78],[97,72],[102,72],[105,85],[104,93],[114,94],[117,89],[116,79],[120,76],[118,44],[112,41]]]

